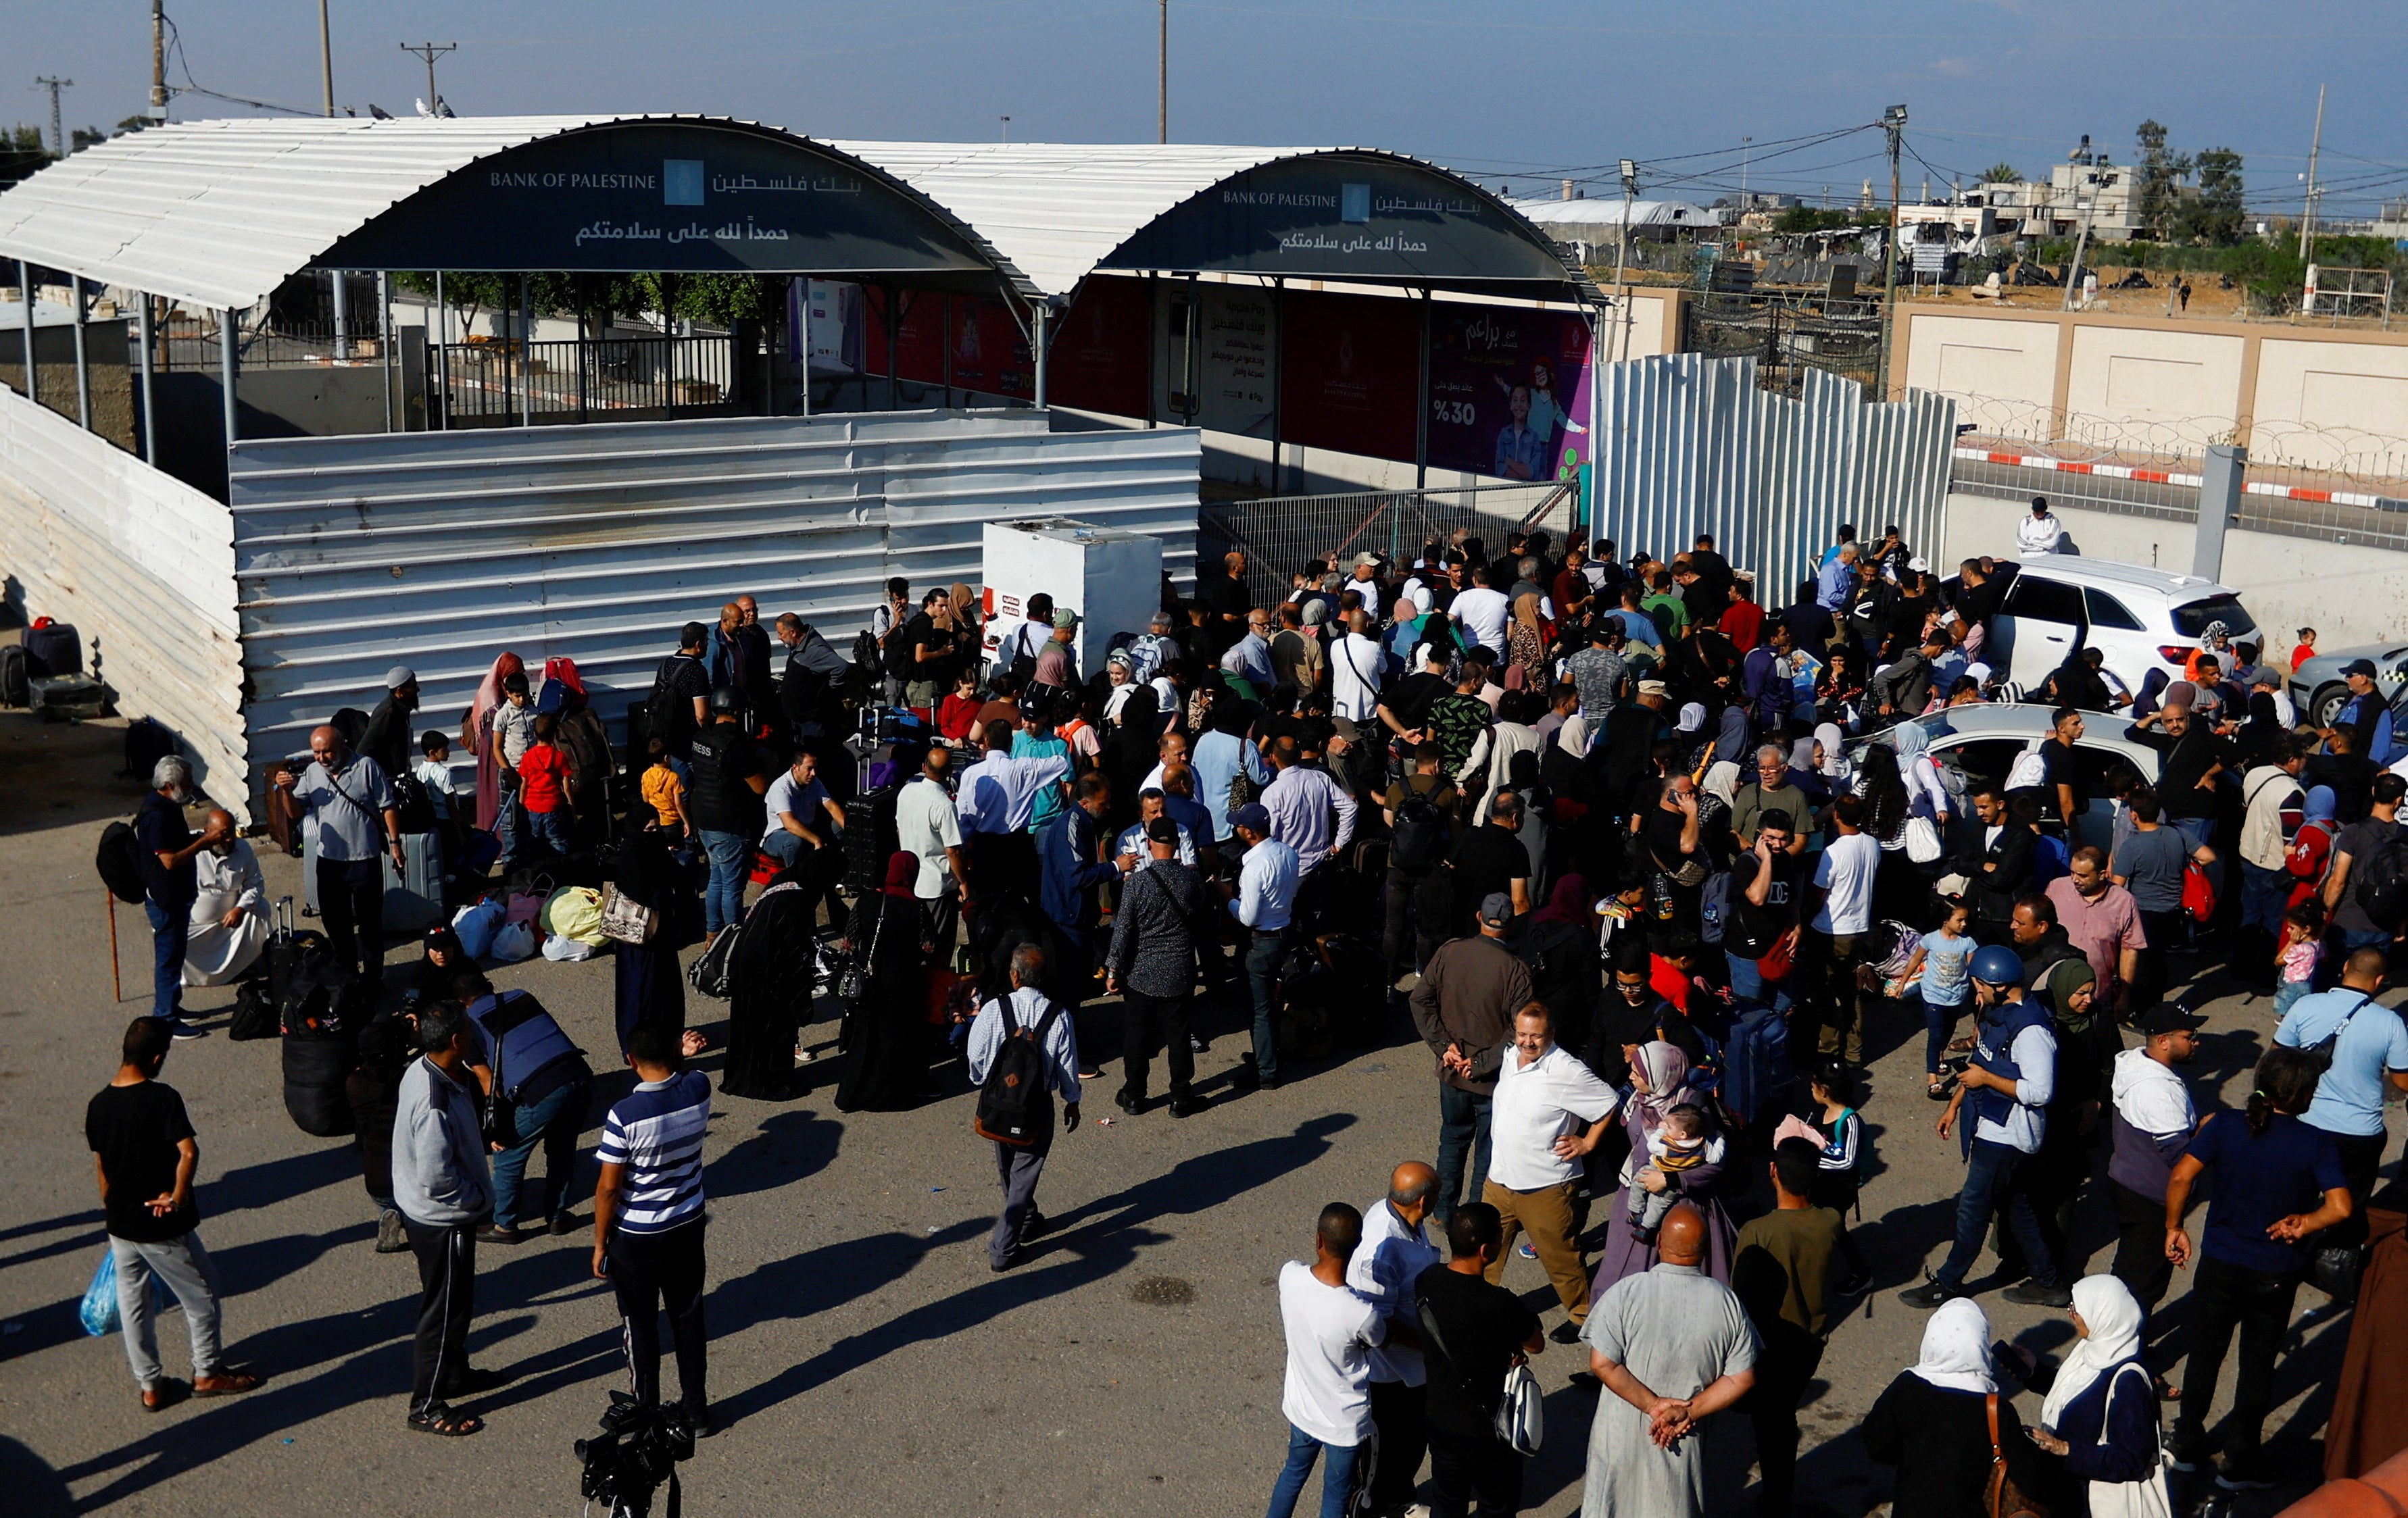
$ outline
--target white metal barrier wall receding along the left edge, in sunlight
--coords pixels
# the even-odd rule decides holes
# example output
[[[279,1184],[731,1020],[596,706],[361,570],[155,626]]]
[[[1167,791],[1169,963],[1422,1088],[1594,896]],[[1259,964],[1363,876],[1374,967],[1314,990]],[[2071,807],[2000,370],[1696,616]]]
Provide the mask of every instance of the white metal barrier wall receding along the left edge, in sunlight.
[[[226,508],[0,387],[0,575],[75,623],[128,717],[183,739],[202,789],[250,820]]]

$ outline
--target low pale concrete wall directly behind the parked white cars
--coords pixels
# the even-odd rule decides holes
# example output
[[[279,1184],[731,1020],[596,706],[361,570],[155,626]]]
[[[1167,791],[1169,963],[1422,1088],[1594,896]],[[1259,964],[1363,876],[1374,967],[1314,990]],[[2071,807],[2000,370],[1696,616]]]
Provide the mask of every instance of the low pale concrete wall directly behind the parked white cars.
[[[1943,563],[1955,565],[1984,553],[2013,558],[2015,522],[2025,510],[2023,500],[1948,496]],[[2068,510],[2064,503],[2056,503],[2056,517],[2090,558],[2191,570],[2189,522]],[[2408,553],[2362,544],[2341,549],[2271,532],[2227,532],[2220,580],[2239,592],[2242,606],[2285,654],[2295,628],[2316,628],[2324,650],[2408,640]]]

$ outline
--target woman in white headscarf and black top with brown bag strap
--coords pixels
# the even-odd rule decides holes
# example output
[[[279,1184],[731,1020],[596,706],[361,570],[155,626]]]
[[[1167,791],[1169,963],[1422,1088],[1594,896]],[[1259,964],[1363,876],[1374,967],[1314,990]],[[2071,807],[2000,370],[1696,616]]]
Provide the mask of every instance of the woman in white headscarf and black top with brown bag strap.
[[[1999,1443],[1989,1410],[1999,1407]],[[2035,1492],[2044,1463],[2015,1417],[2013,1393],[1989,1362],[1989,1318],[1970,1297],[1941,1304],[1924,1323],[1924,1347],[1912,1366],[1864,1415],[1864,1453],[1898,1467],[1890,1518],[1972,1518],[1989,1513],[1989,1470],[2006,1455],[2006,1475]]]

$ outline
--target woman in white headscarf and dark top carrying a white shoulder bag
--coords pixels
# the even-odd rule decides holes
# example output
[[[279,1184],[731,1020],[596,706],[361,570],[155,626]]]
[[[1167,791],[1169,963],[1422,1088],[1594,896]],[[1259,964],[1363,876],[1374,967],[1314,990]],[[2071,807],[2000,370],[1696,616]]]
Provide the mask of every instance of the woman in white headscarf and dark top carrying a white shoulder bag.
[[[2158,1460],[2158,1383],[2141,1359],[2141,1304],[2121,1280],[2085,1275],[2073,1282],[2068,1316],[2078,1338],[2040,1405],[2032,1443],[2056,1455],[2066,1496],[2088,1494],[2090,1518],[2172,1513]]]

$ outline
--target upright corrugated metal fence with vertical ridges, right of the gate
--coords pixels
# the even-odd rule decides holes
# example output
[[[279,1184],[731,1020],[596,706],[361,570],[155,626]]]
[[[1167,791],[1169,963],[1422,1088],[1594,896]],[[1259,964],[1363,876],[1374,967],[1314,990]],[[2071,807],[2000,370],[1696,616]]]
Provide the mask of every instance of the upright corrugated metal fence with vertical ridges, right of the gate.
[[[1840,522],[1900,527],[1936,553],[1955,404],[1910,390],[1866,402],[1854,380],[1804,370],[1796,399],[1760,390],[1753,358],[1671,354],[1604,370],[1597,447],[1601,536],[1657,558],[1712,532],[1724,558],[1787,604]]]

